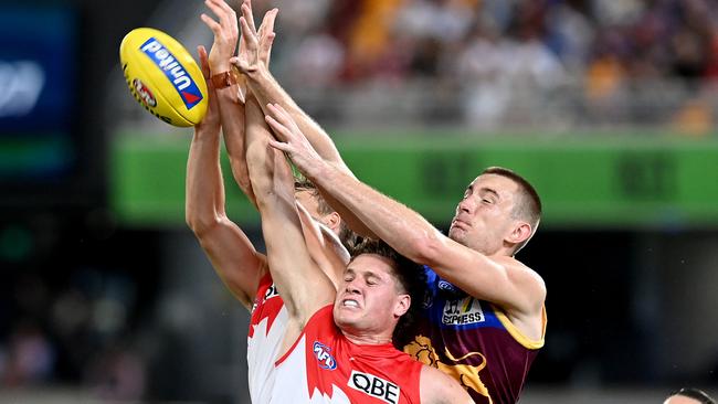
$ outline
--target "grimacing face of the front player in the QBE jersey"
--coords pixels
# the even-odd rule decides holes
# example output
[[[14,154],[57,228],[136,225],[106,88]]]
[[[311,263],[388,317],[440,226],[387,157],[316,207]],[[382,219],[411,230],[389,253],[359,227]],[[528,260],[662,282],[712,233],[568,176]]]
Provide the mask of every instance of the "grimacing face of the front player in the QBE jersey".
[[[377,254],[360,254],[347,265],[334,305],[334,319],[340,329],[391,337],[411,300],[399,293],[392,265]]]

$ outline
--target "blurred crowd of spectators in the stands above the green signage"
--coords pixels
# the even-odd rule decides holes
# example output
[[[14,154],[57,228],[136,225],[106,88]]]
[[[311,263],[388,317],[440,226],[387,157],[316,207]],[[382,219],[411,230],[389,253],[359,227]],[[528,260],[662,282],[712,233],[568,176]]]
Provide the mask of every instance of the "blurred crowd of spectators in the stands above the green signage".
[[[579,89],[582,98],[568,102],[588,125],[652,123],[688,134],[712,125],[714,100],[701,109],[695,99],[718,77],[718,0],[266,2],[288,7],[277,76],[291,86],[431,83],[429,94],[457,95],[450,104],[485,129],[549,119],[536,109],[568,87]],[[669,96],[655,96],[657,82]]]

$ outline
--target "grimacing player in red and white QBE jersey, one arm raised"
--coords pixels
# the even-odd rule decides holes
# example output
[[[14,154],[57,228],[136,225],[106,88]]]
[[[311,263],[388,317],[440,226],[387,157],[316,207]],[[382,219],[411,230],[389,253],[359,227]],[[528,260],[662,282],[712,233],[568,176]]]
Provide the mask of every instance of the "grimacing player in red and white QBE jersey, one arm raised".
[[[281,130],[293,121],[284,115],[270,124]],[[287,161],[267,146],[270,136],[253,135],[247,132],[250,178],[268,268],[288,313],[271,402],[472,403],[457,382],[391,343],[411,293],[421,290],[412,286],[415,264],[383,243],[365,242],[335,288],[309,256]]]

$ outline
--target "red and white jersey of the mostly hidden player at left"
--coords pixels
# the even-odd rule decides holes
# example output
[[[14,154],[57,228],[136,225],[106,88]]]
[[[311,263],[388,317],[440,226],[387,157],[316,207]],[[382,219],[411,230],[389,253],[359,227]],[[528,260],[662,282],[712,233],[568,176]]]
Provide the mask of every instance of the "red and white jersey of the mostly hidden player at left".
[[[275,366],[288,321],[284,300],[267,273],[257,288],[247,332],[246,362],[252,403],[268,403],[274,390]]]

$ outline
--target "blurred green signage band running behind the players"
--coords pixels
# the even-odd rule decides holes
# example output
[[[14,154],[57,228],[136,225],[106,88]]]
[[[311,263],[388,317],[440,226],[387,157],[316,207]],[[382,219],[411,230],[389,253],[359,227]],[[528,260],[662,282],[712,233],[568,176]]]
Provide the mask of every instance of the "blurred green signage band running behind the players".
[[[119,134],[112,203],[125,225],[183,225],[189,132]],[[447,223],[464,188],[488,166],[510,168],[541,195],[543,227],[718,225],[718,141],[624,134],[476,137],[462,134],[345,134],[337,145],[358,178]],[[258,215],[223,161],[229,215]]]

